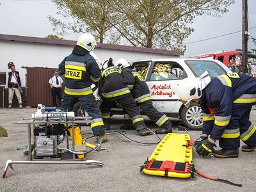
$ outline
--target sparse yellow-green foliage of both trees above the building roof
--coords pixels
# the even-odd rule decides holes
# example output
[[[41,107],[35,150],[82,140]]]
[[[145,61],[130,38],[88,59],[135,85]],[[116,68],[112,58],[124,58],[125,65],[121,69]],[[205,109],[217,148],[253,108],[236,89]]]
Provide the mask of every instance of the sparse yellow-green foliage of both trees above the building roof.
[[[50,17],[55,28],[90,31],[100,42],[111,36],[134,46],[183,51],[182,43],[194,31],[189,24],[195,17],[220,16],[234,0],[54,0],[54,3],[59,14],[74,19],[65,24]]]

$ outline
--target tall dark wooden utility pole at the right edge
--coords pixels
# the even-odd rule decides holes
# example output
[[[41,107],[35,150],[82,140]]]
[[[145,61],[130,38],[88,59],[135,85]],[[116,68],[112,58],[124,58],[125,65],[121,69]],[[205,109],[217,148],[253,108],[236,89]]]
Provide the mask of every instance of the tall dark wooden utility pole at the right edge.
[[[247,63],[248,63],[248,6],[247,0],[243,0],[243,29],[242,29],[243,43],[243,64],[242,70],[243,73],[248,72]]]

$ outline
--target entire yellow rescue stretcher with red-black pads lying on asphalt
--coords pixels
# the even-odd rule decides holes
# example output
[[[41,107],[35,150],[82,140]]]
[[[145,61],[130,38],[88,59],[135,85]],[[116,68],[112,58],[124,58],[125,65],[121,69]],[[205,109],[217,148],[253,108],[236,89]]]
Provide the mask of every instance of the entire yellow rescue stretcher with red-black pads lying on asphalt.
[[[169,133],[142,167],[148,175],[164,177],[191,177],[193,141],[189,134]]]

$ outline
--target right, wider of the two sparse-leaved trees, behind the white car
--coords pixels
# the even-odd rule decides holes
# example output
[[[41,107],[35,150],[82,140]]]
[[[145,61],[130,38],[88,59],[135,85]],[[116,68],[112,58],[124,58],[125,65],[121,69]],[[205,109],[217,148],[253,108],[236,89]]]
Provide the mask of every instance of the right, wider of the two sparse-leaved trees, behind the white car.
[[[233,0],[120,0],[115,8],[125,21],[116,28],[133,44],[182,50],[182,42],[194,31],[188,24],[196,16],[220,15],[232,3]]]

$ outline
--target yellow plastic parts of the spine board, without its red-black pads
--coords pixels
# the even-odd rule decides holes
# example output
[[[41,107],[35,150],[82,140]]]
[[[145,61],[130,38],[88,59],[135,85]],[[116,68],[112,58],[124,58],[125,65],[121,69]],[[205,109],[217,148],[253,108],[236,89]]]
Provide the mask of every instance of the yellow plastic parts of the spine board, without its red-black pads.
[[[188,146],[189,140],[189,134],[168,133],[157,145],[156,149],[148,160],[192,163],[193,147]],[[148,175],[165,175],[165,172],[161,170],[147,170],[144,168],[143,172]],[[191,174],[168,172],[168,177],[189,178],[191,177]]]

